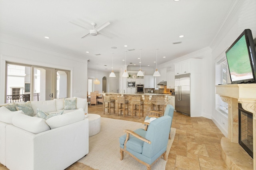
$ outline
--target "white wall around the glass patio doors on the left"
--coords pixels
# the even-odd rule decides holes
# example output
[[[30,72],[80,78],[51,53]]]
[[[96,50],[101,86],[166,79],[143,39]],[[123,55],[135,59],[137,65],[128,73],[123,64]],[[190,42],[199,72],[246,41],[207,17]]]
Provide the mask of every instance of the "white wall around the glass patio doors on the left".
[[[71,96],[87,96],[87,60],[0,35],[0,103],[4,103],[5,62],[71,70]]]

